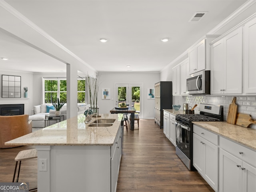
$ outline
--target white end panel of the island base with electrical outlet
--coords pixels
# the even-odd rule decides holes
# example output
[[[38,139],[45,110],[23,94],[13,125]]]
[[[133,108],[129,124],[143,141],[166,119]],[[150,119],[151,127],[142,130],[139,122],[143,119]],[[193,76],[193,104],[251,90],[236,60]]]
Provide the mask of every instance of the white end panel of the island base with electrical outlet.
[[[110,192],[110,146],[36,146],[38,192]],[[46,171],[40,160],[46,159]]]

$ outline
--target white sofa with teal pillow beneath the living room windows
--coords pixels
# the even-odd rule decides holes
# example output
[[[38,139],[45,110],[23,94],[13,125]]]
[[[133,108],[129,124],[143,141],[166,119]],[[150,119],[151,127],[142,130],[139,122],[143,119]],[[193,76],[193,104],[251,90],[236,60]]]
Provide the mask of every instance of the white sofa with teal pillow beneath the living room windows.
[[[85,110],[89,109],[89,104],[77,104],[77,113],[78,115],[83,114]],[[52,104],[42,104],[36,105],[33,107],[32,114],[29,116],[29,120],[32,120],[32,127],[33,128],[44,128],[44,119],[45,115],[55,114],[55,110],[51,109]],[[60,114],[64,115],[64,120],[67,119],[67,104],[65,103],[64,106],[60,110]]]

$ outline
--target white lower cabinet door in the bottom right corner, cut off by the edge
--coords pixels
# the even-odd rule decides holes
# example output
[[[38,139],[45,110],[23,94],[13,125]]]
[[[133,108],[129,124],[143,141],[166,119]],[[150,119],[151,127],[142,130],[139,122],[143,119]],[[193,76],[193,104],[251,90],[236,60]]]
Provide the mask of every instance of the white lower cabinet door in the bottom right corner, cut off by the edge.
[[[256,168],[243,162],[242,166],[243,190],[242,192],[255,192],[256,190]]]

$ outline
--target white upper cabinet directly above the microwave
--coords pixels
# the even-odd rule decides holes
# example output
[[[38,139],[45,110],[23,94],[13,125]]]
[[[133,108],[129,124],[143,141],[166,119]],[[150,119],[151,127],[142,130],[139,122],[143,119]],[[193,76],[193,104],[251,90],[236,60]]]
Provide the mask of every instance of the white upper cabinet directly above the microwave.
[[[206,35],[198,44],[188,51],[189,58],[189,74],[201,70],[210,70],[210,42],[212,42],[217,35]]]

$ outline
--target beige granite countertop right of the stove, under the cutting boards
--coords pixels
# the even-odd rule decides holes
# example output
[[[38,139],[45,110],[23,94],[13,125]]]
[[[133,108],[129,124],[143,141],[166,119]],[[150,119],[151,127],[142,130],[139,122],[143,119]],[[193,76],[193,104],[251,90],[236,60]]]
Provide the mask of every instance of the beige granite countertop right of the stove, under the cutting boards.
[[[246,128],[227,122],[192,122],[206,130],[256,150],[256,129]]]

